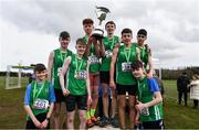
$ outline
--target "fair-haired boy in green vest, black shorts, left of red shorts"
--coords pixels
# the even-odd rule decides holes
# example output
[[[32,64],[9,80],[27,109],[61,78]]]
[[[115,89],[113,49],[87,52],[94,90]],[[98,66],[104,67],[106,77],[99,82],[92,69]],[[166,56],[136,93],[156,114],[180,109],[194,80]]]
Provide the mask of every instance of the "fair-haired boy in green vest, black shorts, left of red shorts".
[[[67,129],[74,129],[75,107],[78,109],[80,129],[85,129],[86,126],[86,109],[87,104],[92,101],[88,62],[83,56],[86,50],[86,43],[83,39],[76,41],[76,54],[66,57],[63,64],[60,84],[63,95],[66,96],[67,110]],[[64,76],[67,74],[66,78]],[[65,87],[65,80],[66,87]]]

